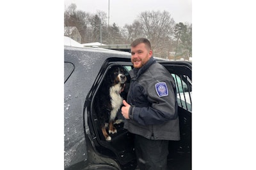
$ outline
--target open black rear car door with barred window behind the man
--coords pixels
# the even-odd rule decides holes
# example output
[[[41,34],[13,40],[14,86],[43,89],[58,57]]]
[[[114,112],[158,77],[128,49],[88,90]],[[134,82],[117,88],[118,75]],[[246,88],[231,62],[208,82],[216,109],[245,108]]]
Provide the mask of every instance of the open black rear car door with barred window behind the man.
[[[159,62],[172,74],[177,89],[180,141],[169,142],[168,169],[191,169],[192,63]]]

